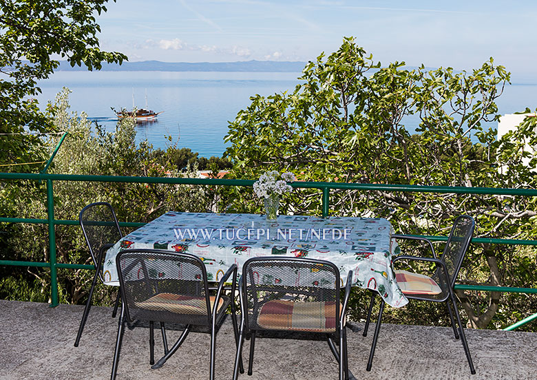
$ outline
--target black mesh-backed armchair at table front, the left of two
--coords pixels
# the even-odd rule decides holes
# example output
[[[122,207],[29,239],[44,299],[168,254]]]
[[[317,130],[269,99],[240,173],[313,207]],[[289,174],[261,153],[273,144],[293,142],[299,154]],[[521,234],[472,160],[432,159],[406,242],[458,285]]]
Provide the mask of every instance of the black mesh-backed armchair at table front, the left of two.
[[[173,355],[185,341],[192,326],[211,328],[210,379],[215,376],[215,350],[217,326],[231,305],[231,318],[238,342],[238,325],[235,303],[224,295],[224,282],[231,277],[231,295],[235,294],[237,265],[233,264],[220,279],[216,295],[209,295],[207,271],[199,257],[189,253],[175,253],[156,249],[127,249],[116,256],[122,299],[121,314],[112,365],[111,379],[116,378],[119,352],[125,321],[149,321],[149,347],[151,364],[154,363],[154,321],[185,324],[185,330],[176,344],[151,366],[156,369]]]

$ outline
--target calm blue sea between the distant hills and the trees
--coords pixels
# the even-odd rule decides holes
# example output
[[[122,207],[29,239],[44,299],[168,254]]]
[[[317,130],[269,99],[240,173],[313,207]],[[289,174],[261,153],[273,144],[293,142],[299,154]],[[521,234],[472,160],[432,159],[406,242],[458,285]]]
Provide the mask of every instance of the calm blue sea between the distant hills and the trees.
[[[149,108],[162,112],[158,120],[136,125],[138,142],[155,149],[186,147],[200,157],[222,156],[229,123],[251,104],[251,96],[293,92],[299,72],[159,72],[159,71],[59,71],[41,81],[41,108],[63,87],[69,88],[71,111],[85,112],[94,123],[114,131],[113,109]],[[146,107],[147,104],[147,107]],[[537,107],[537,83],[507,85],[496,101],[499,114]],[[416,117],[406,127],[417,127]],[[491,126],[495,127],[496,123]],[[171,140],[170,138],[171,137]]]

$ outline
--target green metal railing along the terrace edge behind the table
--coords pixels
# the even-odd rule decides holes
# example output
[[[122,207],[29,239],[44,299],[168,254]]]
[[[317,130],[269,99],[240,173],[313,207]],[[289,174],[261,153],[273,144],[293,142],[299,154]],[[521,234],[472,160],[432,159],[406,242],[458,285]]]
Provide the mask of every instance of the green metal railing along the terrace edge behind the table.
[[[56,151],[61,145],[65,135],[59,142]],[[50,158],[52,160],[54,155]],[[50,161],[49,160],[49,161]],[[47,165],[48,167],[48,165]],[[0,218],[0,222],[17,222],[17,223],[37,223],[48,224],[49,237],[49,262],[23,262],[14,260],[0,260],[0,265],[10,266],[40,266],[50,268],[51,276],[51,307],[59,304],[58,299],[58,268],[76,268],[76,269],[94,269],[92,265],[85,264],[63,264],[56,262],[56,225],[78,225],[76,220],[56,220],[54,219],[54,181],[76,181],[76,182],[125,182],[125,183],[146,183],[146,184],[192,184],[192,185],[221,185],[235,187],[251,187],[253,180],[225,180],[215,178],[161,178],[161,177],[128,177],[128,176],[81,176],[67,174],[49,174],[45,169],[41,173],[0,173],[0,180],[38,180],[46,181],[47,184],[47,219],[32,218]],[[459,194],[487,194],[503,196],[537,196],[537,190],[534,189],[502,189],[502,188],[483,188],[483,187],[445,187],[445,186],[418,186],[408,184],[362,184],[362,183],[339,183],[339,182],[293,182],[295,188],[301,189],[319,189],[322,191],[322,215],[328,216],[330,210],[330,190],[362,190],[362,191],[403,191],[403,192],[421,192],[421,193],[459,193]],[[144,223],[120,222],[120,226],[137,227]],[[442,236],[423,236],[434,241],[445,241],[447,237]],[[474,243],[486,244],[520,244],[537,246],[537,240],[514,240],[514,239],[494,239],[494,238],[476,238],[472,239]],[[490,291],[490,292],[507,292],[507,293],[526,293],[537,294],[536,288],[509,288],[505,286],[472,286],[457,284],[456,289],[470,291]],[[537,314],[531,315],[513,326],[504,330],[513,330],[523,324],[537,319]]]

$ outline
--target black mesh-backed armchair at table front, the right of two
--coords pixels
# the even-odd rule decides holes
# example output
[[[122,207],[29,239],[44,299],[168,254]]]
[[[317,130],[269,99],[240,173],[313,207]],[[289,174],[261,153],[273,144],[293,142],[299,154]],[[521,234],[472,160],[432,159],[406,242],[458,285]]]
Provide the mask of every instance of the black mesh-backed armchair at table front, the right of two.
[[[242,343],[251,332],[248,374],[252,374],[256,332],[326,335],[339,363],[339,379],[348,379],[345,313],[352,283],[349,271],[343,303],[339,270],[331,262],[295,257],[255,257],[244,263],[240,280],[242,320],[233,380],[242,362]],[[339,336],[339,352],[333,338]]]

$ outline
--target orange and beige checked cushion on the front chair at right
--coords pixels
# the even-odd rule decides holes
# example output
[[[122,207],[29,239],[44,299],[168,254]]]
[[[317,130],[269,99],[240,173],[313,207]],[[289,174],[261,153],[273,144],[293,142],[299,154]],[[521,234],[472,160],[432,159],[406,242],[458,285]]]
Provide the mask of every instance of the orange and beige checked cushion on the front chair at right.
[[[335,332],[335,302],[295,302],[277,299],[264,304],[257,325],[268,330]],[[341,304],[339,312],[341,313]]]

